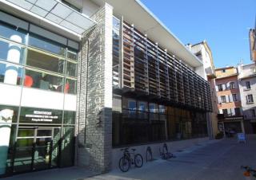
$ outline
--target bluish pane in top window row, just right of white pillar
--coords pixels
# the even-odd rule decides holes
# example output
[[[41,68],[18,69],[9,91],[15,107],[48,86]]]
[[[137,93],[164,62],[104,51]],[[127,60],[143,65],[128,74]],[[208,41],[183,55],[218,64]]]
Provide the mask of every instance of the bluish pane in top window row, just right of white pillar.
[[[66,54],[66,48],[64,47],[64,45],[59,45],[58,43],[55,43],[55,42],[50,41],[50,40],[46,40],[45,38],[38,37],[34,34],[30,35],[29,45],[32,45],[32,46],[37,47],[39,49],[44,49],[44,50],[49,51],[51,53],[59,54],[63,57]]]

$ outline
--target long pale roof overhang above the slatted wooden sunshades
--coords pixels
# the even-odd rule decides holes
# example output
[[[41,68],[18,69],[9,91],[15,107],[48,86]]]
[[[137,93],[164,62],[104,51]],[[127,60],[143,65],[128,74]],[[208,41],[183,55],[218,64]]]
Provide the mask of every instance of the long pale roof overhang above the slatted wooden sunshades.
[[[158,18],[154,16],[139,0],[92,0],[99,6],[103,6],[105,2],[114,7],[114,15],[118,18],[123,16],[124,20],[134,27],[146,33],[147,37],[152,41],[158,42],[163,49],[167,49],[170,53],[174,53],[176,57],[184,61],[187,65],[198,67],[202,65],[202,61],[194,56],[173,33],[170,32]]]

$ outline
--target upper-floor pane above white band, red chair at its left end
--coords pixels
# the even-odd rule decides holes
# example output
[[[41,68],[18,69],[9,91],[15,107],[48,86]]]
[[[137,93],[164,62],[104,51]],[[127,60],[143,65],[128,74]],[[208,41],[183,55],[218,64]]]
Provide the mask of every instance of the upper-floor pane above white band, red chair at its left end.
[[[35,72],[26,69],[24,86],[28,88],[41,88],[54,92],[62,92],[63,78],[45,72]]]

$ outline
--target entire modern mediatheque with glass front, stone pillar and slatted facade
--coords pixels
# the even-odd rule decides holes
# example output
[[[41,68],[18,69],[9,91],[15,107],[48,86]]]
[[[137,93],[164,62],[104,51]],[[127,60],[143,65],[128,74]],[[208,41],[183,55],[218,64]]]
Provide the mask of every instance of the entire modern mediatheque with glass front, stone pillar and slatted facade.
[[[0,0],[1,176],[103,173],[120,147],[158,155],[162,142],[206,140],[212,104],[200,69],[138,0]]]

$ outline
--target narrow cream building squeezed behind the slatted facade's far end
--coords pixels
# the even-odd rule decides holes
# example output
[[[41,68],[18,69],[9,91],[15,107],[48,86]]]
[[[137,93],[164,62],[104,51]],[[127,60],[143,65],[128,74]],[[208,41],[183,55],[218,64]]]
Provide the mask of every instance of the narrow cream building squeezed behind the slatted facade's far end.
[[[210,46],[206,41],[199,42],[195,45],[187,46],[203,63],[203,68],[205,69],[206,76],[204,77],[210,84],[210,95],[211,95],[211,104],[212,104],[212,112],[210,125],[211,127],[208,129],[210,131],[211,137],[214,138],[218,133],[218,98],[215,89],[215,68],[214,68],[214,59],[212,52],[210,50]]]

